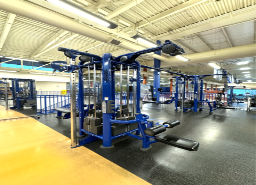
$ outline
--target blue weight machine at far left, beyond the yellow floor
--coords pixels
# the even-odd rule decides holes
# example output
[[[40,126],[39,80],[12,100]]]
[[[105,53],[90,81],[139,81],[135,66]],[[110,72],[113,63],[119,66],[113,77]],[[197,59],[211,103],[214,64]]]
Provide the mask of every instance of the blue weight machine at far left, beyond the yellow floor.
[[[9,78],[12,81],[13,107],[10,109],[20,109],[21,107],[36,106],[35,80]]]

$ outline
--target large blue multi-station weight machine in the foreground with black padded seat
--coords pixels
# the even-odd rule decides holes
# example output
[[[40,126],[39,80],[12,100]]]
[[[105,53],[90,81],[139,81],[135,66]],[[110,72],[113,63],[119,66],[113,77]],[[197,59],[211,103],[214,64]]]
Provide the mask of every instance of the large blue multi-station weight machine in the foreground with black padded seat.
[[[103,144],[101,148],[113,148],[112,140],[122,136],[130,136],[136,139],[142,140],[143,151],[151,149],[152,143],[162,142],[174,147],[182,148],[189,151],[198,150],[199,143],[184,139],[177,136],[166,135],[162,132],[166,131],[166,128],[173,128],[180,124],[178,120],[166,121],[163,124],[159,122],[153,122],[149,120],[149,116],[142,114],[140,108],[142,107],[142,98],[140,97],[141,86],[141,67],[154,69],[157,71],[166,71],[171,74],[174,72],[159,68],[148,67],[141,65],[136,58],[141,54],[151,53],[155,51],[163,51],[168,54],[175,53],[177,51],[177,45],[174,45],[171,41],[166,41],[163,45],[156,46],[154,48],[148,48],[140,50],[138,52],[132,52],[123,54],[116,58],[112,57],[111,53],[104,53],[102,57],[80,52],[78,50],[58,48],[59,51],[64,52],[65,56],[70,58],[70,63],[65,61],[54,61],[51,63],[51,67],[56,71],[68,70],[71,78],[71,148],[82,146],[87,143],[91,143],[97,139],[101,139]],[[79,64],[75,64],[76,57],[79,57]],[[102,101],[101,105],[97,105],[94,98],[94,109],[89,110],[89,116],[85,116],[83,111],[79,111],[79,135],[86,134],[83,139],[77,140],[76,137],[76,118],[75,118],[75,74],[79,76],[79,110],[83,110],[83,71],[88,70],[88,77],[90,82],[90,70],[93,70],[93,82],[95,81],[96,70],[101,71],[101,91]],[[129,71],[133,71],[132,78],[129,78]],[[122,98],[123,92],[121,89],[121,106],[120,117],[117,117],[115,107],[115,76],[114,73],[120,71],[120,78],[122,78],[123,71],[127,72],[127,82],[133,84],[133,112],[129,115],[129,103],[123,105]],[[182,74],[180,74],[182,75]],[[127,83],[129,87],[129,84]],[[95,85],[94,85],[95,87]],[[121,86],[122,87],[122,86]],[[89,89],[90,92],[90,89]],[[94,88],[95,94],[95,88]],[[94,96],[95,97],[95,96]],[[89,105],[90,102],[89,102]],[[100,110],[100,112],[98,112]],[[102,115],[102,117],[100,117]],[[136,132],[135,134],[132,134]],[[140,135],[141,134],[141,135]],[[150,139],[154,139],[151,140]]]

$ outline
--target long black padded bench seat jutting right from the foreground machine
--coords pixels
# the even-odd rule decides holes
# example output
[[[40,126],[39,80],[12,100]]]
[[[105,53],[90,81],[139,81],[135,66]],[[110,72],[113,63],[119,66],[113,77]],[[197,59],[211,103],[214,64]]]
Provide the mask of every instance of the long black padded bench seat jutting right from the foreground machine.
[[[189,151],[197,151],[199,147],[199,143],[197,143],[196,141],[184,139],[178,136],[167,135],[164,133],[160,133],[156,135],[155,140],[161,143],[168,144],[170,146],[182,148],[184,150],[189,150]]]

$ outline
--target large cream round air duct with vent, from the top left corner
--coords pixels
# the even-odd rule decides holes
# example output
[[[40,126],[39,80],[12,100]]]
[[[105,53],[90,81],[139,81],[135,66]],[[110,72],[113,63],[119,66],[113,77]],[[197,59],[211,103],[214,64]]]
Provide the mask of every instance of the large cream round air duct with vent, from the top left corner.
[[[0,4],[0,10],[45,23],[59,29],[70,31],[71,33],[83,35],[97,41],[108,43],[108,41],[110,41],[112,38],[117,39],[116,37],[112,37],[111,35],[103,33],[102,31],[85,26],[67,17],[55,14],[51,11],[39,8],[21,0],[0,0]],[[142,46],[132,44],[125,40],[119,38],[118,40],[122,42],[119,45],[120,48],[127,49],[131,52],[145,49]],[[159,56],[157,54],[152,54],[151,57],[157,58],[163,62],[170,62],[169,58]]]

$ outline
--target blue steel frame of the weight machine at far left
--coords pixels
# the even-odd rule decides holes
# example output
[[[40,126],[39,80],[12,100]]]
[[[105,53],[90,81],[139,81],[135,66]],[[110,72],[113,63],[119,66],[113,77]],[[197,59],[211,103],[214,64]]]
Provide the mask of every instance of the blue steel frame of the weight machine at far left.
[[[24,99],[23,96],[20,96],[20,92],[23,91],[22,88],[19,87],[19,82],[28,82],[28,87],[30,88],[30,94],[29,96]],[[19,79],[15,78],[12,80],[12,99],[13,99],[13,107],[10,107],[10,109],[20,109],[24,105],[21,105],[22,101],[26,100],[36,100],[36,91],[34,91],[34,83],[35,80],[31,79]]]

